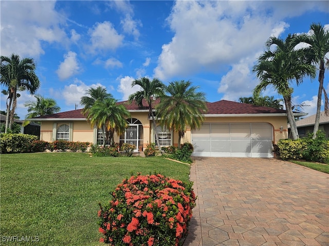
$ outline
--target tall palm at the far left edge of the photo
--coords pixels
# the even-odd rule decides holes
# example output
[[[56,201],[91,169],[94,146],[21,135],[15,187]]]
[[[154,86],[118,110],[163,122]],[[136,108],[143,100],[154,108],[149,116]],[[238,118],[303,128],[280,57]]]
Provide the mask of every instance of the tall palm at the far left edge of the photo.
[[[40,87],[40,81],[35,74],[36,67],[32,58],[20,60],[19,55],[12,54],[11,57],[1,56],[0,63],[0,84],[6,86],[9,91],[10,101],[7,112],[10,114],[8,128],[11,128],[17,106],[17,90],[27,90],[30,94],[34,94]],[[5,130],[6,133],[8,128]]]

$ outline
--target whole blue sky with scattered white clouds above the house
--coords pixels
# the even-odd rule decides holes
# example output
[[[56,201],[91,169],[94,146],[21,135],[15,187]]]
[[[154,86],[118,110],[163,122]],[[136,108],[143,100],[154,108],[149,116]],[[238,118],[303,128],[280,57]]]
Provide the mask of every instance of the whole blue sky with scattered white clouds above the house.
[[[190,80],[207,101],[237,101],[258,84],[251,70],[270,36],[308,32],[313,22],[329,28],[328,1],[0,1],[0,10],[1,55],[34,58],[37,93],[61,111],[82,108],[90,87],[126,100],[143,76]],[[328,78],[326,70],[327,92]],[[317,91],[317,79],[305,78],[293,103],[314,114]],[[34,97],[21,94],[24,119]],[[263,95],[280,98],[272,88]],[[0,102],[5,110],[4,95]]]

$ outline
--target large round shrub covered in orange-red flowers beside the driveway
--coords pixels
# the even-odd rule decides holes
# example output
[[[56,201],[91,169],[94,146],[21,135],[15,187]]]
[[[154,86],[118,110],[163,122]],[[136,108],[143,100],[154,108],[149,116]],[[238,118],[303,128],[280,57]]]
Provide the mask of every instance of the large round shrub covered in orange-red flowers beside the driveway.
[[[98,211],[100,242],[119,245],[182,245],[195,207],[192,182],[161,174],[124,179]]]

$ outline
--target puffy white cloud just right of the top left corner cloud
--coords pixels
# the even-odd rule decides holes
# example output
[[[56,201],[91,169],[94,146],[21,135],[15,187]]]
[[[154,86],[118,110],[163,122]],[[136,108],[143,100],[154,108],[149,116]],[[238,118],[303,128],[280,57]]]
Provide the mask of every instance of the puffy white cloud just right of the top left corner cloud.
[[[89,29],[91,47],[88,46],[88,51],[106,51],[115,50],[121,44],[123,36],[118,34],[111,22],[96,23]]]

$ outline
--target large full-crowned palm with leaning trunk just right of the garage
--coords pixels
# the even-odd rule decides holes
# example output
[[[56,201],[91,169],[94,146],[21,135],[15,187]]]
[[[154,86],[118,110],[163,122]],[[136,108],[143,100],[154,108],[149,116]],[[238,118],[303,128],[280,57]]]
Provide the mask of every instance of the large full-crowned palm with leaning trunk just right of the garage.
[[[291,137],[298,138],[296,121],[291,106],[291,97],[294,89],[291,87],[291,81],[296,79],[299,85],[304,76],[315,77],[313,66],[304,62],[303,49],[295,50],[295,35],[288,35],[285,40],[270,37],[265,46],[267,50],[258,58],[258,63],[253,67],[253,72],[261,80],[254,90],[253,95],[258,97],[260,92],[267,86],[272,86],[280,95],[283,96],[287,111],[287,117],[291,129]],[[276,45],[276,49],[271,51],[270,47]]]

